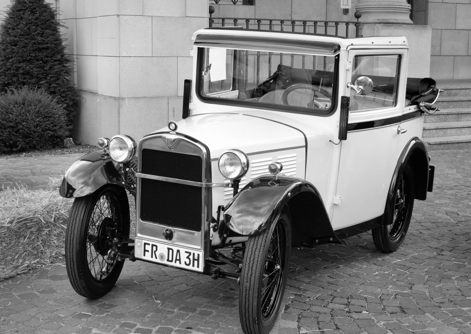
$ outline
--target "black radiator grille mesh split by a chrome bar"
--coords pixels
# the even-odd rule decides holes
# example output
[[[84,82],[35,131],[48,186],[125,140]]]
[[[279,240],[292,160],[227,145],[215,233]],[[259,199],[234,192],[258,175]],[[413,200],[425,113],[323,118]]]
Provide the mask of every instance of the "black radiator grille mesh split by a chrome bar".
[[[142,151],[141,172],[201,182],[203,163],[196,155]],[[201,231],[202,188],[174,182],[141,179],[140,218],[151,223]]]

